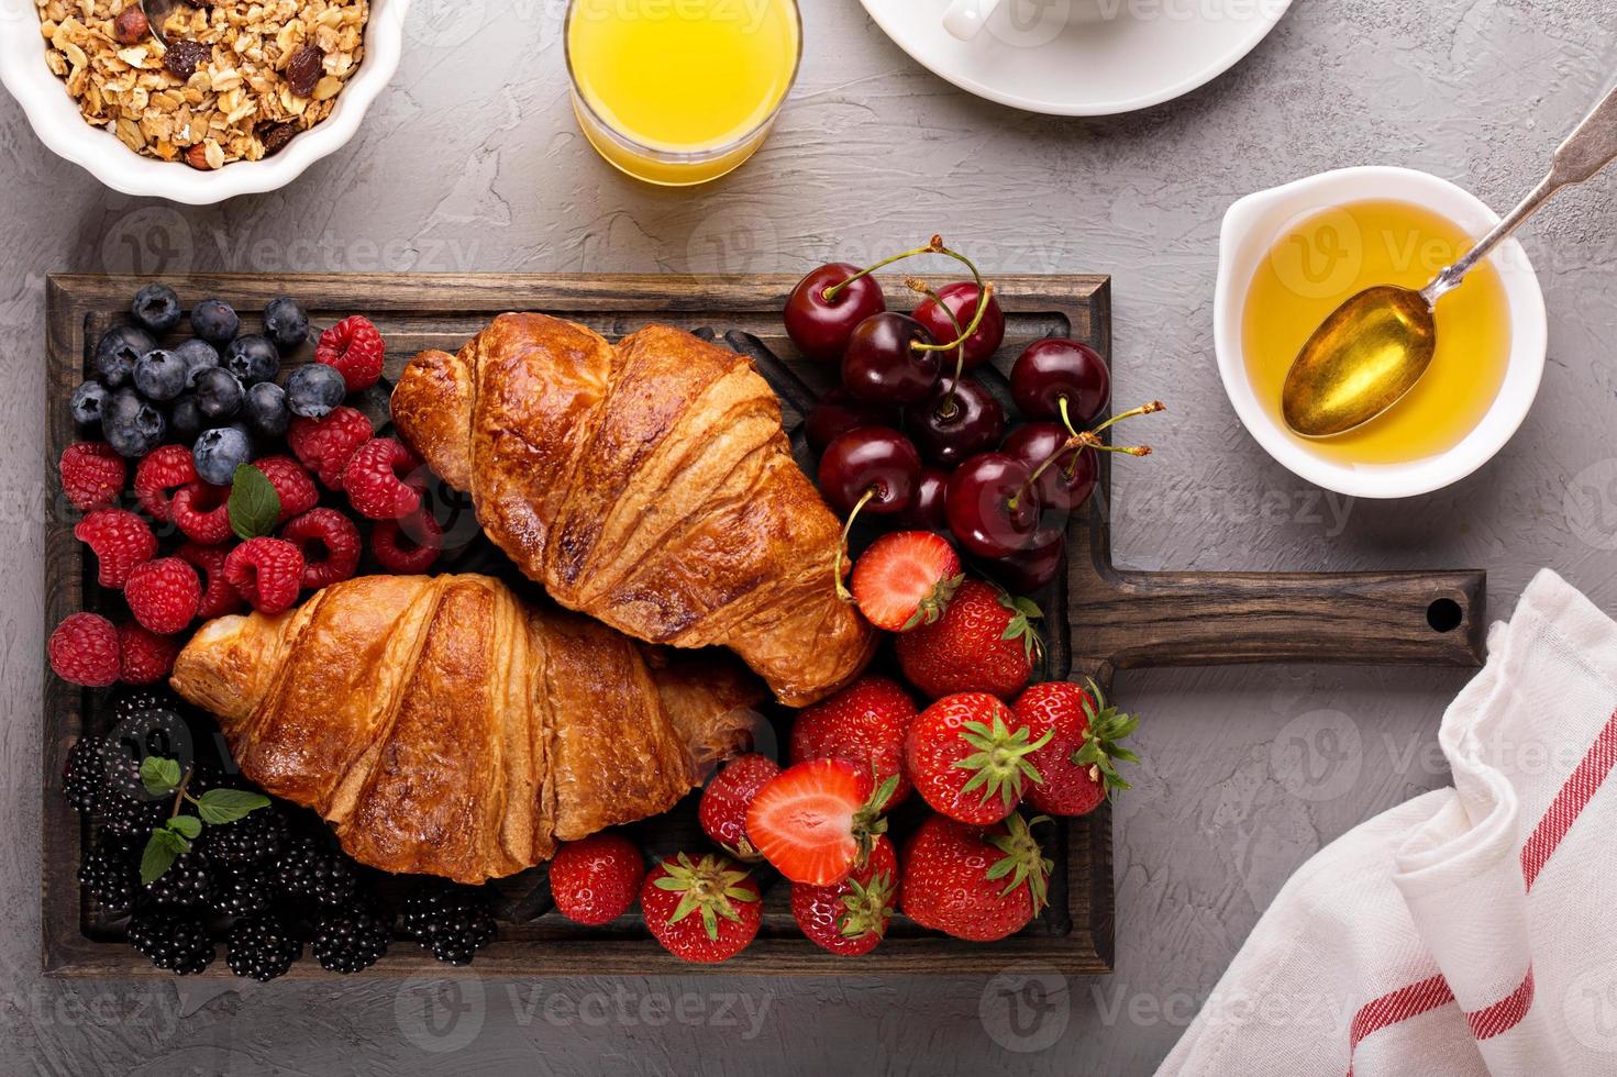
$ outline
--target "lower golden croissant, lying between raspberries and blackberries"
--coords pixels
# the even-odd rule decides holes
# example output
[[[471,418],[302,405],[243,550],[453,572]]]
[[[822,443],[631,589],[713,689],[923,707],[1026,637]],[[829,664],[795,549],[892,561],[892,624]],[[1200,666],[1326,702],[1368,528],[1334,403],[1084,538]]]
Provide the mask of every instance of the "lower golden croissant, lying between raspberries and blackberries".
[[[660,658],[487,576],[370,576],[210,621],[170,682],[361,864],[480,883],[668,810],[741,749],[762,686],[723,652]]]

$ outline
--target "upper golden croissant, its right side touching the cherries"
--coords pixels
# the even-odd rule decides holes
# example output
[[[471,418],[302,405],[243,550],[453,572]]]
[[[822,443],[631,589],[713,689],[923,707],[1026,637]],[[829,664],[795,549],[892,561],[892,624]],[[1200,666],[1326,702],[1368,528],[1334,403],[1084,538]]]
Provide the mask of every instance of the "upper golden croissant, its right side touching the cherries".
[[[833,589],[841,524],[744,356],[666,325],[613,346],[503,314],[458,356],[416,356],[393,420],[571,610],[653,644],[729,647],[794,707],[875,652]]]

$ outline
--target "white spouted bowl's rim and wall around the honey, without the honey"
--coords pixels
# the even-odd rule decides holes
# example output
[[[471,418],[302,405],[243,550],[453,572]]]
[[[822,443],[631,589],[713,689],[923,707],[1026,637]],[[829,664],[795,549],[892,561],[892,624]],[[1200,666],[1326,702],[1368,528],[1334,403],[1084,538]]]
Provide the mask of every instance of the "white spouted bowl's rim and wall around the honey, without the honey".
[[[1347,464],[1310,450],[1282,429],[1252,388],[1240,332],[1247,289],[1261,260],[1298,215],[1365,199],[1413,202],[1452,220],[1473,238],[1499,223],[1499,217],[1468,191],[1410,168],[1342,168],[1250,194],[1224,215],[1213,340],[1224,391],[1269,456],[1326,490],[1357,498],[1408,498],[1465,479],[1504,448],[1538,395],[1549,325],[1544,293],[1526,251],[1509,239],[1491,257],[1510,306],[1510,359],[1499,396],[1476,429],[1449,451],[1407,464]]]

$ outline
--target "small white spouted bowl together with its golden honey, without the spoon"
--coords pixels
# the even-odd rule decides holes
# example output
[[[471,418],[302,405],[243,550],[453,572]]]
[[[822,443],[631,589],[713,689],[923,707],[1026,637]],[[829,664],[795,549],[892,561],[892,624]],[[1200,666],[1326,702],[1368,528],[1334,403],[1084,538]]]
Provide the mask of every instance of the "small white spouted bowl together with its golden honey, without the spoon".
[[[1229,209],[1214,346],[1235,414],[1269,456],[1337,493],[1407,498],[1504,448],[1538,395],[1549,336],[1515,239],[1439,301],[1438,354],[1394,408],[1329,438],[1292,432],[1281,412],[1292,359],[1342,301],[1374,285],[1423,288],[1497,223],[1468,191],[1408,168],[1328,171]]]

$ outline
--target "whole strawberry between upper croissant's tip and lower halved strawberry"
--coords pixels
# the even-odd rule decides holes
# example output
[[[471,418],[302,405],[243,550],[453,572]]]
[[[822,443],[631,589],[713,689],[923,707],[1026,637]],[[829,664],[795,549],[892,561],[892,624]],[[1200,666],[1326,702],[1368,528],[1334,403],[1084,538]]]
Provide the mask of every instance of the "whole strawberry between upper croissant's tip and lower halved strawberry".
[[[897,681],[865,676],[828,700],[797,715],[792,723],[791,760],[841,758],[875,771],[876,784],[896,778],[891,809],[910,792],[904,776],[904,734],[915,720],[915,700]]]

